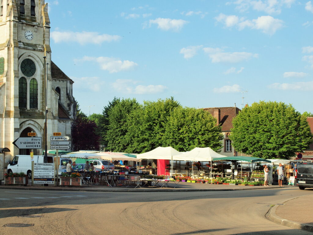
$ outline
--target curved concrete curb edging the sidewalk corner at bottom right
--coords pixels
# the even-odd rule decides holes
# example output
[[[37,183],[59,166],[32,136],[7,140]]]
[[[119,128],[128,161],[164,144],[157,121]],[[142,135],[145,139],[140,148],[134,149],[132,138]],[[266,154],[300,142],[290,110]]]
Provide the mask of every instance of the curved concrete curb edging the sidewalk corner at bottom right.
[[[304,195],[304,196],[308,196],[308,195]],[[300,197],[304,197],[304,196],[300,196]],[[295,198],[298,198],[298,197],[295,197]],[[287,201],[293,200],[295,198],[289,199]],[[283,203],[285,203],[287,201],[284,201]],[[280,206],[280,205],[275,205],[272,208],[270,208],[265,217],[268,218],[269,220],[275,222],[275,223],[280,224],[280,225],[313,232],[313,225],[311,225],[311,224],[305,224],[305,223],[301,224],[299,222],[287,220],[287,219],[284,219],[284,218],[278,216],[276,214],[276,209],[278,206]]]

